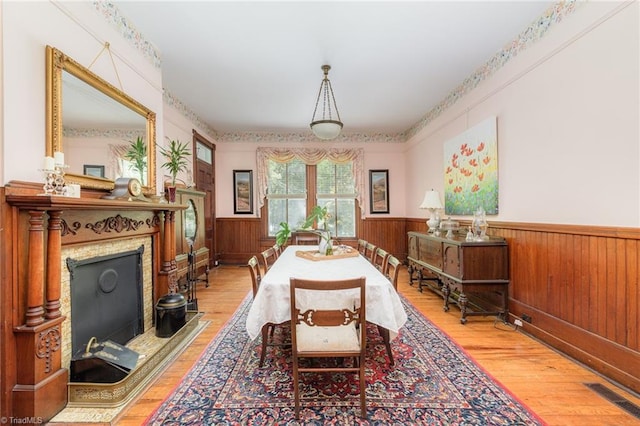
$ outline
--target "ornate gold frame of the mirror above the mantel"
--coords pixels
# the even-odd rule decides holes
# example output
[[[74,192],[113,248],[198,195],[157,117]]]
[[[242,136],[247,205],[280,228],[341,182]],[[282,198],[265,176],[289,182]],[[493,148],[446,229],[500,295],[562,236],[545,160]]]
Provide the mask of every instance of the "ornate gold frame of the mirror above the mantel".
[[[64,152],[62,146],[62,73],[63,71],[79,78],[93,88],[109,96],[121,105],[140,114],[146,119],[147,127],[147,185],[143,192],[147,195],[156,193],[156,113],[131,98],[120,89],[89,71],[55,47],[46,48],[46,155],[53,156],[56,151]],[[82,188],[113,190],[115,182],[94,176],[65,174],[67,183],[80,184]]]

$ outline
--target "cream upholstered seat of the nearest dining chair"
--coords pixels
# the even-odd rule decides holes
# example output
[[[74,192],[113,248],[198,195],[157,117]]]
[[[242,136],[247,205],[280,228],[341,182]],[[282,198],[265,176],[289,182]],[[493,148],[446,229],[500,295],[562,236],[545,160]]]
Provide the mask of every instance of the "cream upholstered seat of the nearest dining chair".
[[[341,327],[296,326],[298,352],[360,352],[360,337],[355,323]]]

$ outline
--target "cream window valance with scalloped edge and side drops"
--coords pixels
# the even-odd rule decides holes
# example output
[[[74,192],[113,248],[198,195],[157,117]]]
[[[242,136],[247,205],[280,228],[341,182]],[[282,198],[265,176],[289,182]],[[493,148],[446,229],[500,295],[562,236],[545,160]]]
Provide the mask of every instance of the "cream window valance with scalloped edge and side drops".
[[[362,194],[364,194],[364,149],[342,149],[342,148],[258,148],[257,155],[257,175],[258,175],[258,216],[260,209],[264,206],[267,197],[267,161],[277,161],[288,163],[294,159],[299,159],[305,164],[318,164],[322,160],[330,160],[334,163],[353,163],[353,179],[356,185],[356,200],[360,206],[361,216],[364,217],[364,207],[362,205]]]

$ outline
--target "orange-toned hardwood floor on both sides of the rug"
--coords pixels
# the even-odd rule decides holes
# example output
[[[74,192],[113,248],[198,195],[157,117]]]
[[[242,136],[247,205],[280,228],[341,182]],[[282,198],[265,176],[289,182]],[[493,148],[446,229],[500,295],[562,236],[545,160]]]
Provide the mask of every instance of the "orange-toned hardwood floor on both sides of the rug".
[[[251,291],[245,266],[220,266],[209,274],[211,286],[199,286],[199,310],[210,325],[156,381],[124,410],[118,425],[139,425],[179,384],[218,330]],[[640,398],[616,387],[574,361],[498,322],[493,317],[471,317],[459,322],[460,311],[452,306],[443,312],[442,299],[408,284],[406,268],[398,279],[398,291],[431,321],[449,334],[476,362],[502,383],[549,425],[639,425],[640,420],[585,386],[601,383],[640,405]]]

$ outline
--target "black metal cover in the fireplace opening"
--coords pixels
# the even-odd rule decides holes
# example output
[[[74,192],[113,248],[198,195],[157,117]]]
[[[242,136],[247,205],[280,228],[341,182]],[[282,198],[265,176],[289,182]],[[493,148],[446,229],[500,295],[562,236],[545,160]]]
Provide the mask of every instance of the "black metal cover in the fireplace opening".
[[[125,345],[144,333],[142,254],[137,250],[76,260],[67,258],[71,287],[71,344],[75,357],[87,343]]]

